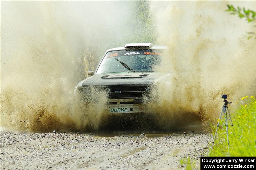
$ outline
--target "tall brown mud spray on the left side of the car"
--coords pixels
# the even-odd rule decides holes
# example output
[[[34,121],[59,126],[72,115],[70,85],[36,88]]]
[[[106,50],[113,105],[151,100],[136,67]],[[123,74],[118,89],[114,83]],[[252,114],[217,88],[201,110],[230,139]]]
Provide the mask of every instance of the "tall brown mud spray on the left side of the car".
[[[78,66],[92,46],[99,60],[123,45],[115,33],[124,30],[125,3],[1,1],[1,127],[97,129],[105,95],[93,92],[94,106],[76,108],[74,87],[85,78]]]

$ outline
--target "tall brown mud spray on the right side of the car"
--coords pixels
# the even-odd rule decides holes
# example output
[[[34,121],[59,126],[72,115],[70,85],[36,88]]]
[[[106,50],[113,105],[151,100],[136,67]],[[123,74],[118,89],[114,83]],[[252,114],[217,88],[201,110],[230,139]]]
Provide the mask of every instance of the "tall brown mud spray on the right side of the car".
[[[255,1],[246,2],[234,5],[255,9]],[[162,95],[153,107],[161,110],[159,124],[166,129],[184,126],[195,120],[193,117],[199,117],[204,125],[215,124],[222,94],[228,94],[233,103],[242,95],[255,94],[255,39],[245,38],[246,31],[255,31],[255,22],[250,25],[226,13],[227,4],[151,4],[158,21],[158,43],[168,46],[158,70],[173,75],[158,85],[157,93]]]

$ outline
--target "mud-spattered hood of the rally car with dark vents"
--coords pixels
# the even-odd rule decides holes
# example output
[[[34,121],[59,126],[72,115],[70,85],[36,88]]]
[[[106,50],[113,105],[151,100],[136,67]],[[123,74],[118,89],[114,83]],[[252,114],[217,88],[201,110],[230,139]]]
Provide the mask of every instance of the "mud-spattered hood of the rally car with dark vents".
[[[157,72],[95,74],[81,81],[78,87],[88,85],[152,85],[168,81],[170,76],[170,73]]]

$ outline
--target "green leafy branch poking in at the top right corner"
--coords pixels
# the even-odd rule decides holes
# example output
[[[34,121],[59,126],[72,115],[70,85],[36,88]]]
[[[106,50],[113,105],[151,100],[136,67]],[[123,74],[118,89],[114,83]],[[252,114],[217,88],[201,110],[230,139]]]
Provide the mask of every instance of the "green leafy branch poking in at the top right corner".
[[[253,10],[245,10],[243,7],[243,10],[241,7],[235,8],[233,5],[227,5],[228,9],[226,11],[230,12],[231,15],[238,15],[239,18],[245,18],[247,22],[255,22],[255,16],[256,12]],[[247,39],[250,39],[251,37],[255,37],[255,32],[248,32]]]

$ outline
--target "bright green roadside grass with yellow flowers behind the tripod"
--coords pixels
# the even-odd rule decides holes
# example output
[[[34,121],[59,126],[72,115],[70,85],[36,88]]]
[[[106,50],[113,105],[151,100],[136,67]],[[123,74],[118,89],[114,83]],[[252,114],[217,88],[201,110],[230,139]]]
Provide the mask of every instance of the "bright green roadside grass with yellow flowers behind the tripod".
[[[256,154],[256,99],[243,97],[238,109],[231,112],[234,126],[229,126],[229,150],[225,129],[225,118],[220,120],[220,128],[209,156],[255,156]],[[230,121],[229,121],[229,124]],[[212,128],[213,135],[216,126]]]

